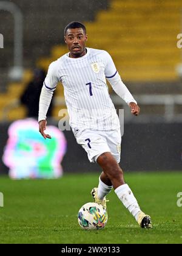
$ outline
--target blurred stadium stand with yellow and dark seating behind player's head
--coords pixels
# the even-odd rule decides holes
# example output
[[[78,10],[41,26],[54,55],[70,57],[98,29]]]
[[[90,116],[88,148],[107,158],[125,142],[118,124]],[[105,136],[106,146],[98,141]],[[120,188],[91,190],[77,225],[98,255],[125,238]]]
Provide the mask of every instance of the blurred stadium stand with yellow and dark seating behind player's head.
[[[89,34],[88,47],[106,49],[113,57],[116,68],[133,94],[180,94],[181,80],[176,66],[181,62],[177,48],[180,33],[182,3],[169,1],[12,1],[24,15],[24,67],[37,66],[47,70],[49,64],[67,52],[63,43],[64,26],[72,20],[83,21]],[[0,68],[12,66],[12,16],[2,12],[5,21],[0,24],[5,48],[0,51]],[[8,26],[7,26],[8,23]],[[7,30],[5,30],[7,29]],[[0,83],[7,77],[2,75]],[[8,85],[7,93],[0,94],[0,108],[7,104],[5,98],[16,99],[30,79],[25,70],[20,84]],[[63,98],[62,87],[56,95]],[[61,98],[61,99],[62,99]],[[163,102],[162,102],[163,104]],[[54,117],[64,107],[64,100],[55,104]],[[150,108],[144,106],[143,110]],[[153,113],[160,113],[160,105],[152,106]],[[174,108],[181,112],[181,104]],[[164,113],[164,110],[162,111]],[[146,112],[148,113],[148,112]],[[24,107],[10,111],[7,119],[23,118]],[[1,115],[0,119],[5,118]]]

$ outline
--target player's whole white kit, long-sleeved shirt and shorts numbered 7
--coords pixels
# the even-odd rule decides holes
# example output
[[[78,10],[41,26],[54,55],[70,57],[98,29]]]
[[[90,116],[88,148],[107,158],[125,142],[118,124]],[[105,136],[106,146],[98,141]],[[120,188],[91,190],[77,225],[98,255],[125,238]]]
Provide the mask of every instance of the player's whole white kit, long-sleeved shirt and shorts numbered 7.
[[[83,57],[70,58],[69,54],[64,54],[50,64],[39,101],[39,121],[46,119],[53,91],[61,82],[70,126],[90,162],[96,162],[103,152],[111,152],[119,163],[120,120],[109,96],[106,79],[127,104],[136,101],[123,84],[109,53],[86,49]]]

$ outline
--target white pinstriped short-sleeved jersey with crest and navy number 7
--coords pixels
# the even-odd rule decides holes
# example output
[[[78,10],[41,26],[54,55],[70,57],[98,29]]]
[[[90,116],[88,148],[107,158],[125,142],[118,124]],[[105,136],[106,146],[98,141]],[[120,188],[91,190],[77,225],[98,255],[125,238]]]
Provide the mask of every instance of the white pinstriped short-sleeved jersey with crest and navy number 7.
[[[62,83],[73,132],[120,129],[120,121],[106,84],[106,78],[110,82],[118,75],[116,67],[108,52],[86,49],[83,57],[74,59],[65,54],[52,62],[44,88],[54,91],[58,82]],[[129,101],[135,101],[131,94]]]

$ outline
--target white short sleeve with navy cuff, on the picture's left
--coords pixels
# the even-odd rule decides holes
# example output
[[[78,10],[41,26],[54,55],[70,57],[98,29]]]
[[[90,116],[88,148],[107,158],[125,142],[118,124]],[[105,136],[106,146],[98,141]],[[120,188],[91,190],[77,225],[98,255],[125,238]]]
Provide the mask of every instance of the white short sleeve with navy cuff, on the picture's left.
[[[59,82],[58,78],[58,70],[57,70],[57,63],[52,62],[49,65],[49,69],[47,72],[47,76],[44,80],[44,87],[48,90],[54,91],[56,89],[56,85]]]

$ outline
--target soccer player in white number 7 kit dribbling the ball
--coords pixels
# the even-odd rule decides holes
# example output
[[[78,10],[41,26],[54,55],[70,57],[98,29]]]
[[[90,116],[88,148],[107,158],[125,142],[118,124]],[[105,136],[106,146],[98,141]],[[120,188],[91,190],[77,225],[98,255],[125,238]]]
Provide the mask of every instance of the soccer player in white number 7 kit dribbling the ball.
[[[123,84],[109,53],[86,48],[87,33],[84,24],[69,23],[64,29],[64,40],[69,53],[62,55],[49,66],[39,99],[39,132],[51,138],[46,129],[46,114],[53,91],[60,81],[64,87],[67,110],[76,141],[87,152],[90,162],[103,169],[98,188],[91,191],[93,199],[106,207],[106,195],[115,190],[116,195],[143,228],[152,227],[150,216],[140,206],[129,185],[124,182],[120,163],[120,121],[110,99],[106,79],[113,90],[139,115],[132,94]]]

